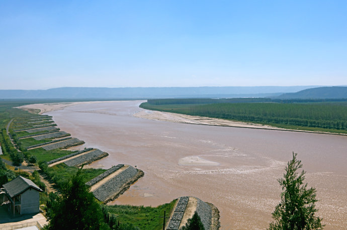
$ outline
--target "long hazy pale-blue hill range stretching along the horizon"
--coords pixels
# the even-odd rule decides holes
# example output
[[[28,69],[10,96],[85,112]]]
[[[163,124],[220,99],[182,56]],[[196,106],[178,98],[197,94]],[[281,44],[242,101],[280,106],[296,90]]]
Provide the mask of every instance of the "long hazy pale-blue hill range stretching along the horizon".
[[[0,90],[0,98],[103,98],[150,99],[183,97],[276,97],[317,86],[230,86],[230,87],[62,87],[47,90]]]

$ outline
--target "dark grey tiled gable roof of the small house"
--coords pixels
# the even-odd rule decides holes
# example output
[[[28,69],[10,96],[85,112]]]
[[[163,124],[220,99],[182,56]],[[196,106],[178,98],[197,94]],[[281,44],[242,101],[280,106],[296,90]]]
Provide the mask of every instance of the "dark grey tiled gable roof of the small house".
[[[42,190],[34,182],[22,176],[16,177],[12,181],[4,184],[3,187],[6,189],[6,191],[9,193],[11,197],[21,194],[28,188],[34,188],[42,192]]]

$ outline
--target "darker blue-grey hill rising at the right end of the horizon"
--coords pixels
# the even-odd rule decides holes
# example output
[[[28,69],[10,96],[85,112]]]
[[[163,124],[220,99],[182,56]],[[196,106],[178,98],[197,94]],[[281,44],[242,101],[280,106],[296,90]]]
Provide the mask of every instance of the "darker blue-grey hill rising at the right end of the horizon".
[[[347,87],[330,86],[304,89],[295,93],[285,93],[277,98],[279,99],[331,99],[331,98],[347,98]]]

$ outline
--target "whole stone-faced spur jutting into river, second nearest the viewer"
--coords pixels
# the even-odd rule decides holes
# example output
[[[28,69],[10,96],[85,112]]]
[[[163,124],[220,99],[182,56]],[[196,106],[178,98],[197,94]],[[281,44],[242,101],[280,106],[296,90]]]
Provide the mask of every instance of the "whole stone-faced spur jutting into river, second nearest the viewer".
[[[123,194],[138,178],[143,176],[141,170],[128,166],[124,171],[117,176],[108,180],[105,184],[93,191],[94,196],[104,203],[117,198]]]

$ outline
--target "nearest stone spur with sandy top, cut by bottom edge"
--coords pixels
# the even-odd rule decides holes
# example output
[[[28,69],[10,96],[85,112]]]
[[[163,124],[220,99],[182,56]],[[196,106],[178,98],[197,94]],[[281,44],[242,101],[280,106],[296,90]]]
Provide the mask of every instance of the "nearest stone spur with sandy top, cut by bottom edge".
[[[213,205],[197,197],[180,197],[175,211],[166,226],[167,230],[178,230],[197,212],[206,230],[219,229],[219,211]]]

